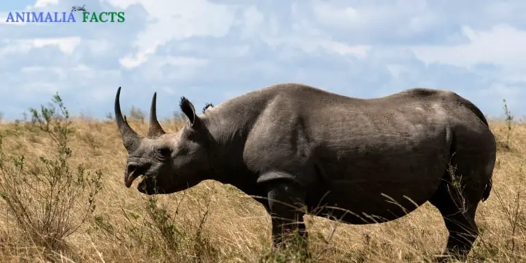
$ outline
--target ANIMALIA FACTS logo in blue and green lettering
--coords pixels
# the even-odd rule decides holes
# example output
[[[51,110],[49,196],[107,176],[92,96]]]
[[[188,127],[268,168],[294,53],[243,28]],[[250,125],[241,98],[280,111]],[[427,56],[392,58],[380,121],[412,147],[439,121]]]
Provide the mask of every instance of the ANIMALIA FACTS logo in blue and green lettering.
[[[70,12],[9,12],[6,23],[71,23],[77,22],[75,12],[82,12],[83,23],[123,23],[125,12],[89,12],[86,5],[73,5]]]

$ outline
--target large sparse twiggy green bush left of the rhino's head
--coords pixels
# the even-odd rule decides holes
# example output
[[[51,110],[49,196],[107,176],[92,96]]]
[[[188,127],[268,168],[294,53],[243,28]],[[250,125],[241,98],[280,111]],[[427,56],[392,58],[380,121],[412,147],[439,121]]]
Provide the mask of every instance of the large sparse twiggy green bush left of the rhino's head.
[[[35,163],[24,155],[8,155],[0,136],[0,197],[14,219],[22,242],[42,247],[47,255],[62,251],[64,239],[73,234],[95,210],[101,190],[101,171],[88,173],[82,164],[71,168],[68,160],[70,129],[68,110],[58,94],[54,105],[29,108],[31,129],[40,129],[55,142],[52,158],[40,156]]]

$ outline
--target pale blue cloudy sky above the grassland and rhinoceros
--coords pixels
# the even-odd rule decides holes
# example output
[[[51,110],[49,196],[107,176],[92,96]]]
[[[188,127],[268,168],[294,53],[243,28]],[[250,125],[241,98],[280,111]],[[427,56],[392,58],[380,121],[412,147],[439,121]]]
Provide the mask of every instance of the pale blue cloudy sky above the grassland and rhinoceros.
[[[124,11],[125,23],[5,23],[8,12]],[[453,90],[490,116],[526,113],[526,1],[84,0],[0,2],[0,112],[55,92],[74,114],[121,104],[160,118],[300,82],[352,97]],[[75,14],[80,18],[79,14]]]

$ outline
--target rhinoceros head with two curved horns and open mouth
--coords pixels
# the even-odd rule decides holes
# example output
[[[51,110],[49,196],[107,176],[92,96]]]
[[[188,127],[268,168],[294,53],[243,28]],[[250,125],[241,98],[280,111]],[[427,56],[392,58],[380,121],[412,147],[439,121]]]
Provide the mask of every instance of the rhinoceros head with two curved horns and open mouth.
[[[123,117],[119,96],[115,97],[115,119],[128,156],[124,172],[127,188],[142,175],[139,192],[147,195],[170,194],[199,184],[210,174],[209,147],[212,136],[188,99],[181,97],[179,106],[188,117],[183,129],[166,134],[157,119],[153,94],[149,130],[146,137],[137,134]]]

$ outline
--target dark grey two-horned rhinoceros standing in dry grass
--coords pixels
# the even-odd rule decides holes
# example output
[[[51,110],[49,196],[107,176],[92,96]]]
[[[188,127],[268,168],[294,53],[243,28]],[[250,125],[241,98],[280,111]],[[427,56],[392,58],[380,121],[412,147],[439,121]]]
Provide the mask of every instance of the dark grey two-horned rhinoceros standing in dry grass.
[[[175,134],[158,122],[155,92],[147,136],[123,117],[120,92],[127,188],[139,175],[146,195],[205,179],[231,184],[271,214],[274,245],[291,231],[307,238],[305,213],[363,225],[401,218],[426,201],[449,231],[440,257],[466,258],[478,236],[475,211],[490,195],[496,143],[484,114],[455,92],[412,88],[359,99],[276,84],[203,114],[181,97],[188,120]]]

